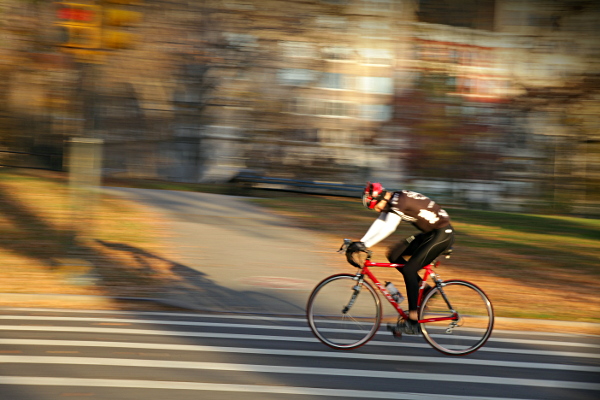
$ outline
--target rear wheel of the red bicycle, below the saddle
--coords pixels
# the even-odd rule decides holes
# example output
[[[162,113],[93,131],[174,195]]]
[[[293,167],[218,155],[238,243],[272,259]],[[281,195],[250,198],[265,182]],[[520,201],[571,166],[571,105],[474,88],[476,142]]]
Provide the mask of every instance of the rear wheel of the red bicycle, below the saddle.
[[[456,315],[455,315],[456,313]],[[434,319],[448,318],[452,320]],[[442,284],[442,291],[433,288],[423,300],[419,311],[425,340],[436,350],[448,355],[465,355],[485,344],[494,327],[494,310],[486,294],[476,285],[451,280]]]

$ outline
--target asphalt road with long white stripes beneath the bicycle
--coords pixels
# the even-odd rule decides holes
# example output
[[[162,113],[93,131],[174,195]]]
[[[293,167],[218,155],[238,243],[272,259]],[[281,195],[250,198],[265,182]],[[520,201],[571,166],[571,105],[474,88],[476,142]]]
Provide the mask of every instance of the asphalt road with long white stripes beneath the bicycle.
[[[597,339],[496,331],[449,357],[387,332],[332,350],[294,317],[5,308],[0,398],[591,400]]]

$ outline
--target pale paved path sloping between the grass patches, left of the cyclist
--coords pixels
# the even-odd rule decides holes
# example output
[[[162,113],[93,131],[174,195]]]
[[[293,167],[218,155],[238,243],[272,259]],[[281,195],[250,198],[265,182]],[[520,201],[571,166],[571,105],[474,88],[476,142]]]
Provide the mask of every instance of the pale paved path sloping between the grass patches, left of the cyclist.
[[[336,253],[343,236],[339,244],[325,244],[318,233],[300,229],[246,198],[105,190],[146,205],[162,217],[170,261],[186,280],[185,288],[163,296],[186,307],[301,315],[317,282],[334,272],[354,270],[344,269],[345,261]]]

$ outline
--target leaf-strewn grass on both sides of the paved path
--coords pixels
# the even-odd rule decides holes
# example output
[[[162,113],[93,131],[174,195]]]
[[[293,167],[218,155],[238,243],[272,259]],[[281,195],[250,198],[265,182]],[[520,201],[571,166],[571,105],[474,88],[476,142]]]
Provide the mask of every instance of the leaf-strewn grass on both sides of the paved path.
[[[364,209],[358,198],[247,191],[233,185],[116,180],[104,184],[252,195],[248,201],[322,235],[332,252],[342,238],[360,239],[377,216]],[[104,198],[101,223],[94,228],[99,240],[77,247],[80,256],[102,274],[102,286],[61,282],[62,275],[53,273],[57,259],[64,256],[72,233],[87,229],[85,223],[73,225],[67,188],[64,174],[0,171],[0,256],[12,266],[3,273],[0,291],[27,292],[34,287],[39,292],[145,295],[144,291],[169,279],[172,265],[160,255],[160,224],[155,224],[154,216],[135,204]],[[480,285],[498,316],[600,322],[600,220],[447,211],[457,235],[452,258],[438,271],[443,278]],[[386,246],[415,232],[402,223],[374,247],[376,256],[383,257]],[[340,257],[340,269],[344,268],[348,266]]]

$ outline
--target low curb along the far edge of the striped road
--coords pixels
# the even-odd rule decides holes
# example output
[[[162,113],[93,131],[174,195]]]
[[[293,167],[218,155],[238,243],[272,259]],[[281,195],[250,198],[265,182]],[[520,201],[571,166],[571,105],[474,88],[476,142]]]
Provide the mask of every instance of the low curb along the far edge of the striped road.
[[[222,314],[253,314],[253,315],[268,315],[268,316],[293,316],[293,317],[304,317],[304,313],[275,313],[275,312],[252,312],[252,311],[235,311],[235,310],[224,310],[215,309],[211,307],[202,307],[198,305],[192,305],[177,300],[160,299],[153,297],[128,297],[128,296],[98,296],[98,295],[79,295],[79,294],[34,294],[34,293],[0,293],[0,301],[12,300],[12,301],[23,301],[23,300],[62,300],[66,302],[72,301],[83,301],[83,302],[108,302],[108,301],[131,301],[131,302],[145,302],[154,303],[163,306],[181,308],[189,311],[201,311],[209,313],[222,313]],[[0,309],[6,308],[6,306],[0,305]],[[19,308],[31,308],[28,306],[20,306]],[[594,322],[577,322],[577,321],[560,321],[560,320],[547,320],[547,319],[530,319],[530,318],[507,318],[507,317],[496,317],[496,325],[538,325],[545,326],[547,328],[553,327],[571,327],[582,330],[593,330],[597,333],[593,335],[600,335],[600,323]]]

